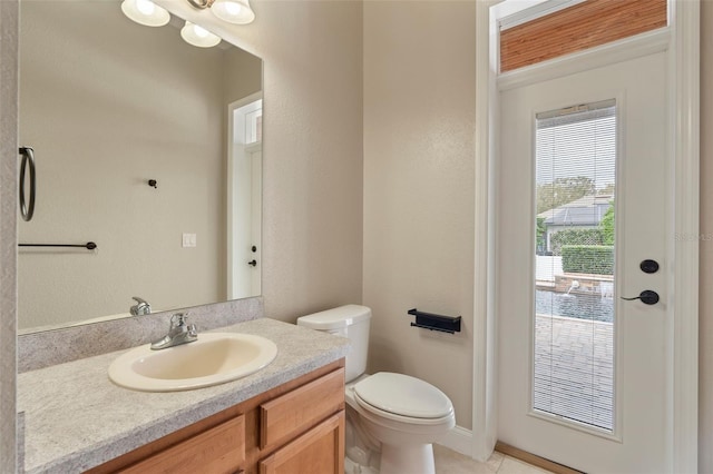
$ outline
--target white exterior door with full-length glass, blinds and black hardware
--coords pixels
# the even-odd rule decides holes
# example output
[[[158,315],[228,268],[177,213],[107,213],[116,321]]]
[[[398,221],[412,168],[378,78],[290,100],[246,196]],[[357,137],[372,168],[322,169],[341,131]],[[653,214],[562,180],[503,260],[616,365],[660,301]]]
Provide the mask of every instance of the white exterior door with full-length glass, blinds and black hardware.
[[[666,60],[500,92],[498,438],[588,473],[671,465]]]

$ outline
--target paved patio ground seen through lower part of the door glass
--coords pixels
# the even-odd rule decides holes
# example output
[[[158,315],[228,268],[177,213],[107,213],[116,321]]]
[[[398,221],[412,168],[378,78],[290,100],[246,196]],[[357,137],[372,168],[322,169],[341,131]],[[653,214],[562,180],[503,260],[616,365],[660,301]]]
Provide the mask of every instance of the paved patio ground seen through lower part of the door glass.
[[[612,323],[537,315],[535,408],[614,428]]]

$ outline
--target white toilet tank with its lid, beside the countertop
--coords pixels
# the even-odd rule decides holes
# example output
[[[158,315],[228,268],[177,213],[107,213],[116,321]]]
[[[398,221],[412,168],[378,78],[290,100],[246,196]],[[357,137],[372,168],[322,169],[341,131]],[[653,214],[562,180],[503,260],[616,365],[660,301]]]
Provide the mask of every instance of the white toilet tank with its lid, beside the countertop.
[[[346,382],[353,381],[367,371],[369,350],[369,326],[371,309],[367,306],[345,305],[297,318],[297,326],[324,330],[349,338],[346,355]]]

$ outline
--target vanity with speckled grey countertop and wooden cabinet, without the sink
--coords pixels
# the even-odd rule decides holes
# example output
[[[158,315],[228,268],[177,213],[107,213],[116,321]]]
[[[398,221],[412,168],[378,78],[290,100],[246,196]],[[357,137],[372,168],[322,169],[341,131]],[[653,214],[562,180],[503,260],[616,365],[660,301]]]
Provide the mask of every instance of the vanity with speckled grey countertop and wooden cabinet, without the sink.
[[[277,357],[186,392],[114,385],[121,352],[20,374],[26,472],[343,472],[348,340],[267,318],[219,330],[270,338]]]

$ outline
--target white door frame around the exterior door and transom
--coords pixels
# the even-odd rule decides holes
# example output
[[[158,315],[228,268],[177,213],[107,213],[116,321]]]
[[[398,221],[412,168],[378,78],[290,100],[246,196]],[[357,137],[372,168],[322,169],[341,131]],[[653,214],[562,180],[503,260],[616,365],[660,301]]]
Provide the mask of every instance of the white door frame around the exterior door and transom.
[[[478,0],[476,9],[476,199],[473,292],[472,455],[485,461],[497,442],[496,317],[496,178],[498,162],[499,87],[519,87],[616,58],[629,59],[668,50],[671,87],[668,121],[673,156],[670,192],[675,233],[667,258],[673,289],[670,322],[672,354],[667,433],[670,472],[697,472],[699,456],[699,170],[700,170],[700,0],[668,0],[668,27],[649,33],[535,65],[497,77],[498,31],[490,7],[504,0]],[[520,9],[543,0],[519,0]],[[556,65],[553,68],[551,65]],[[545,70],[547,69],[547,70]],[[498,83],[500,82],[500,83]]]

